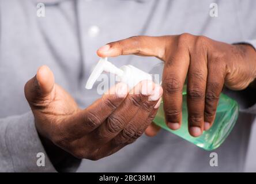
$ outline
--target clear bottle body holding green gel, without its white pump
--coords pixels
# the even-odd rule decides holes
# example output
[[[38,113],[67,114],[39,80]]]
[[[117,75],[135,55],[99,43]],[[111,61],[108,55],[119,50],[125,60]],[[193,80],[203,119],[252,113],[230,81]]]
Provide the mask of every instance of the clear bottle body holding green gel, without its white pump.
[[[150,74],[159,75],[161,79],[161,74],[163,72],[163,63],[157,64],[151,71]],[[156,81],[155,81],[156,82]],[[219,99],[219,104],[217,106],[216,117],[212,127],[208,131],[199,137],[193,137],[189,134],[187,125],[187,95],[186,95],[186,85],[183,87],[183,101],[182,101],[182,125],[180,129],[172,131],[165,124],[163,102],[161,103],[159,110],[154,119],[155,124],[159,125],[161,128],[174,133],[175,135],[182,137],[183,139],[190,141],[191,143],[197,145],[198,147],[204,148],[204,150],[214,150],[219,147],[223,141],[227,138],[235,122],[238,118],[239,105],[238,103],[229,98],[227,95],[221,94]]]

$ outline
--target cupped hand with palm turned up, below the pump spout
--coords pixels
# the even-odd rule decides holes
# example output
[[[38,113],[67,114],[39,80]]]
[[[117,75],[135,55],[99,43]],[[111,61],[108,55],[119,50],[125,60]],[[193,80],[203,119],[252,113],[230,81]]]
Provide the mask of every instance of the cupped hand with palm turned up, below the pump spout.
[[[150,81],[129,89],[112,87],[86,109],[61,86],[47,66],[25,85],[39,135],[76,158],[97,160],[133,143],[156,115],[163,89]]]

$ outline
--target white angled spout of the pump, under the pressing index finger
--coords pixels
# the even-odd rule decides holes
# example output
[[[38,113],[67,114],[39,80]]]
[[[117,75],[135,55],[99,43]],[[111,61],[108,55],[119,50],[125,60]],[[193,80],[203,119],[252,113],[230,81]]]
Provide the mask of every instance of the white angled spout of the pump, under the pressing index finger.
[[[100,74],[103,72],[110,72],[111,74],[115,74],[118,76],[123,75],[123,71],[118,67],[114,66],[114,64],[107,61],[107,57],[101,57],[96,67],[93,69],[92,74],[89,76],[89,79],[86,83],[86,89],[92,89],[93,84],[96,82],[97,78],[99,78]]]

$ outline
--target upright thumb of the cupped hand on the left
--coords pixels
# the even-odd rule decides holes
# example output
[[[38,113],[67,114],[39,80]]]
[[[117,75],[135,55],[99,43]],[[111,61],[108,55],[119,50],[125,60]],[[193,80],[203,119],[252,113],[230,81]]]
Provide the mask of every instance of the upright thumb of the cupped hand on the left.
[[[30,105],[42,106],[41,101],[52,99],[51,92],[53,89],[54,74],[49,67],[41,66],[36,75],[26,83],[24,92]]]

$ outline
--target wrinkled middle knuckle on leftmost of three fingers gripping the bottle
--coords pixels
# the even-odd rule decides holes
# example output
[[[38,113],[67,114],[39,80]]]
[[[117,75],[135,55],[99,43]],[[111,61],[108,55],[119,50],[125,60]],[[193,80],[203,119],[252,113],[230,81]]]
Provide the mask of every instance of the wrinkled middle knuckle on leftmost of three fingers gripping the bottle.
[[[172,94],[182,89],[182,83],[174,76],[169,76],[163,80],[165,93]]]

